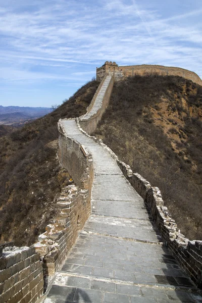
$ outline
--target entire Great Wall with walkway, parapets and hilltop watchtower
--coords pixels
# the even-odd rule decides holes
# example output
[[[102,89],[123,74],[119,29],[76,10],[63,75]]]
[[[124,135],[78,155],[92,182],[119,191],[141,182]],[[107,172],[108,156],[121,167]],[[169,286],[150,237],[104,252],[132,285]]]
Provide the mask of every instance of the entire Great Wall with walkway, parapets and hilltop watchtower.
[[[202,301],[202,241],[186,239],[160,190],[91,136],[114,81],[154,72],[202,85],[184,69],[106,62],[87,113],[59,121],[58,157],[76,185],[63,189],[37,243],[0,246],[1,303]]]

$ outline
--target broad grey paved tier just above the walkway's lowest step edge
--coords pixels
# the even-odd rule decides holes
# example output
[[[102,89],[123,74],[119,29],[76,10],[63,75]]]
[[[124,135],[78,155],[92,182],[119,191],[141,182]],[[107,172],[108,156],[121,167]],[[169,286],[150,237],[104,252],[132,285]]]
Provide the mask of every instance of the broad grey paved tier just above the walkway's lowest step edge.
[[[166,247],[85,231],[80,234],[60,272],[135,284],[194,287]]]

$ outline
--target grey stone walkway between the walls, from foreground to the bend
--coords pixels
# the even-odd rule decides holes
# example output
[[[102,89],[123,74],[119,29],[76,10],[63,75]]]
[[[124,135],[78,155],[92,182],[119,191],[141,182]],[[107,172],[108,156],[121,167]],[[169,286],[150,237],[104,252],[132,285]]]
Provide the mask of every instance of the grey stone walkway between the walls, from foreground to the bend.
[[[93,157],[92,214],[44,302],[202,302],[108,151],[62,123]]]

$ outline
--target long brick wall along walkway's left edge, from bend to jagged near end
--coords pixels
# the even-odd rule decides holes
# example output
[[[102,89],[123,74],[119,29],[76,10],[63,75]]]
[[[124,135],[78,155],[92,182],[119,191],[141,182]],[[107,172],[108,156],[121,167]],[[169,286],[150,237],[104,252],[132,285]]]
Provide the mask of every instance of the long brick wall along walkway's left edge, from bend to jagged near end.
[[[84,146],[64,133],[59,122],[58,157],[76,185],[66,186],[57,199],[58,213],[39,235],[34,244],[43,260],[45,287],[48,280],[64,262],[70,248],[76,241],[79,230],[84,226],[91,212],[91,187],[93,181],[92,157]]]

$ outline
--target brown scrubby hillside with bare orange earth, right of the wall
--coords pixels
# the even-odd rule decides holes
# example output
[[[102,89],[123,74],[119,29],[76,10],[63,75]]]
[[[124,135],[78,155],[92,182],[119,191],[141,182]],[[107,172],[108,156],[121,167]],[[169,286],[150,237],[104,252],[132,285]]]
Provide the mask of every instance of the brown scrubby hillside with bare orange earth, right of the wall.
[[[119,81],[93,135],[161,189],[182,233],[202,239],[201,86],[158,75]]]

